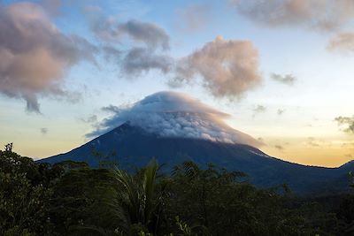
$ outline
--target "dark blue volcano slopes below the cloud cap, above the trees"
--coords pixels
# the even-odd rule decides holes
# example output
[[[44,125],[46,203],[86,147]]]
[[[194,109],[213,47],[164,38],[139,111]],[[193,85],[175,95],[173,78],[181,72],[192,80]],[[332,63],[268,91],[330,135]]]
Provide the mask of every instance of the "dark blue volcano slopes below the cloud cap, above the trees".
[[[245,144],[186,138],[163,138],[147,133],[140,127],[124,124],[65,154],[51,156],[40,162],[55,164],[65,160],[83,161],[97,167],[108,156],[120,168],[134,171],[156,158],[163,171],[176,164],[193,161],[201,167],[215,164],[228,171],[243,171],[257,187],[277,187],[288,184],[297,194],[335,194],[347,191],[347,173],[354,164],[340,168],[324,168],[292,164],[267,156],[258,148]],[[112,155],[116,153],[116,155]]]

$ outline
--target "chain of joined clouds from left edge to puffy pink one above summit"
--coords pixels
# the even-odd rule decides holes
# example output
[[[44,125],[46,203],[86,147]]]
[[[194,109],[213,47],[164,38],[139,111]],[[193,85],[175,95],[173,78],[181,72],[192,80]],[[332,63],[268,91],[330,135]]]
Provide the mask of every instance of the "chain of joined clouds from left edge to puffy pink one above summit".
[[[0,4],[0,94],[24,99],[29,111],[40,112],[40,96],[76,99],[65,90],[63,79],[82,60],[97,65],[98,53],[116,63],[126,78],[155,70],[164,73],[169,84],[201,82],[217,97],[239,97],[261,81],[252,42],[219,36],[176,59],[166,53],[170,38],[163,28],[135,19],[119,22],[91,6],[87,16],[97,39],[94,45],[60,32],[50,21],[60,7],[57,0]]]

